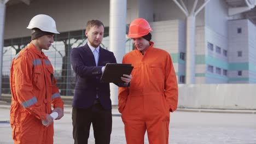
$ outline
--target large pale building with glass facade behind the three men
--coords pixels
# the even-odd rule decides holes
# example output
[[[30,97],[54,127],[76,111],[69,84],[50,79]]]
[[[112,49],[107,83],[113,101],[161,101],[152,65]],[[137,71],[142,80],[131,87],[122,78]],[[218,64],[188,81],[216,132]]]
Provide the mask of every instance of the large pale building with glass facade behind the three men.
[[[256,83],[255,4],[252,0],[2,0],[2,93],[10,93],[11,59],[30,42],[26,27],[37,14],[52,16],[61,32],[44,52],[54,66],[62,95],[73,95],[75,75],[69,53],[86,43],[85,24],[91,19],[104,23],[101,46],[114,51],[118,62],[123,54],[115,51],[129,52],[133,46],[127,37],[124,42],[111,38],[109,34],[116,31],[112,23],[120,21],[127,34],[129,23],[142,17],[153,28],[155,47],[170,53],[178,83]],[[113,13],[119,18],[112,19]]]

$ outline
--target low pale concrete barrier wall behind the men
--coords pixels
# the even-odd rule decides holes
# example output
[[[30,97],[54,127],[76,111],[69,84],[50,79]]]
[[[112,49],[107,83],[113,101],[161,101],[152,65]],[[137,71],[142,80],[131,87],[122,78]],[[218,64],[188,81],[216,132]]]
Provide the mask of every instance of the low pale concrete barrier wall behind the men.
[[[180,84],[178,87],[180,108],[256,110],[256,84]],[[73,96],[61,98],[65,105],[72,104]],[[2,94],[1,100],[10,103],[11,95]]]

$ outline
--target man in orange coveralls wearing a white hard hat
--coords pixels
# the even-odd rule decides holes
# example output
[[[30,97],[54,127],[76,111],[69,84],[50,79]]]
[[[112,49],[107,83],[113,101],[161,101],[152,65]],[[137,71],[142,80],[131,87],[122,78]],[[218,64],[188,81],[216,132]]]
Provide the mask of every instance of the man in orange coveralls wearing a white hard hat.
[[[55,85],[53,65],[42,50],[49,50],[54,34],[59,32],[48,15],[34,16],[27,28],[32,29],[31,43],[15,56],[10,71],[12,136],[15,144],[49,144],[54,135],[50,113],[57,112],[56,119],[60,119],[63,101]]]

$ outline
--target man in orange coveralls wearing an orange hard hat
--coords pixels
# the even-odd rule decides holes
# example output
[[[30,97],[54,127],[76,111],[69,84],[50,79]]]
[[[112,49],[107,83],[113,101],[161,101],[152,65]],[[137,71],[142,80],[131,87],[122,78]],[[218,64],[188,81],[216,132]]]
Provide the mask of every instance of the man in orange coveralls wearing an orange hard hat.
[[[134,67],[130,87],[119,87],[118,105],[125,125],[127,144],[168,143],[170,112],[177,109],[178,86],[168,52],[154,47],[152,28],[144,19],[131,22],[128,37],[135,50],[127,53],[123,63]]]

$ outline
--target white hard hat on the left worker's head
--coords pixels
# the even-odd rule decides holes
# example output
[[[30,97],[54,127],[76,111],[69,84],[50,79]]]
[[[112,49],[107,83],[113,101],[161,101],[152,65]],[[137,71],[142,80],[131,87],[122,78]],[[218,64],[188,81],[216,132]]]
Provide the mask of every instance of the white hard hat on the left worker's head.
[[[40,14],[40,15],[34,16],[31,19],[30,24],[28,24],[27,28],[28,29],[39,28],[41,31],[44,31],[44,32],[59,34],[59,32],[56,29],[56,23],[54,19],[49,15]]]

